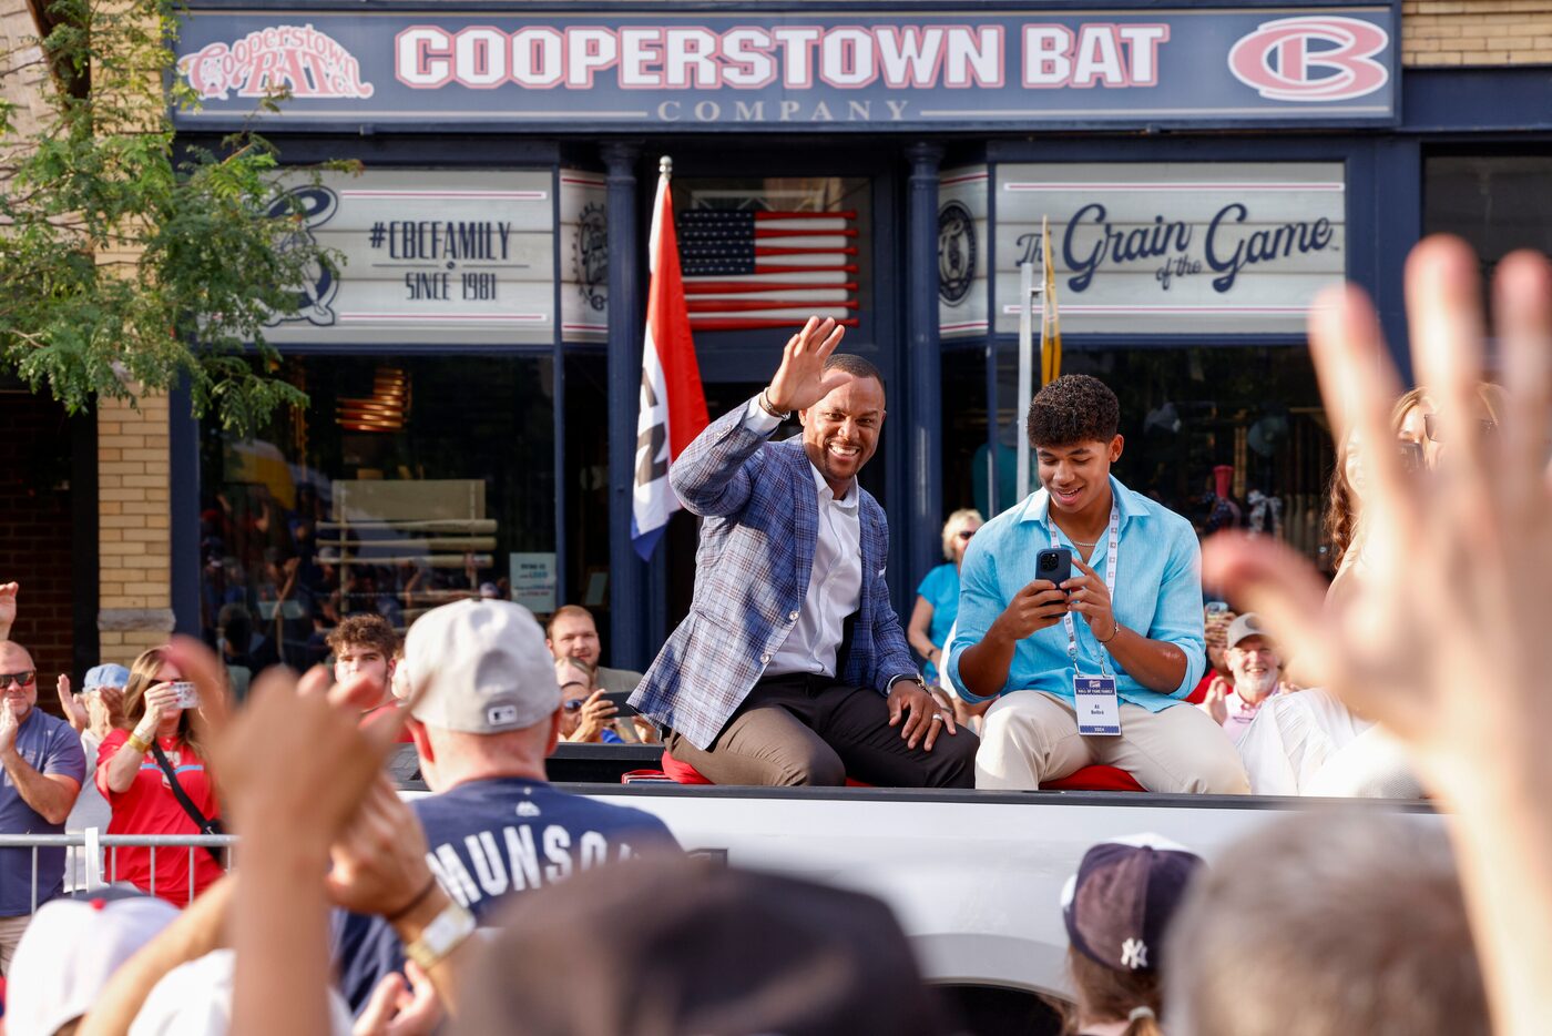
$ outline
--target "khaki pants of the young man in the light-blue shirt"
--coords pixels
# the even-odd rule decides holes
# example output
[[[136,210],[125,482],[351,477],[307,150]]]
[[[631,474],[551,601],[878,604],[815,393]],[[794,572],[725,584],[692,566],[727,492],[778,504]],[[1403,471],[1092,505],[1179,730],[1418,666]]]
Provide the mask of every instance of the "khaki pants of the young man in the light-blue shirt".
[[[1251,791],[1234,742],[1200,708],[1181,702],[1150,713],[1122,702],[1119,738],[1085,738],[1072,707],[1044,691],[1003,694],[987,710],[975,786],[1035,789],[1096,764],[1127,770],[1153,792]]]

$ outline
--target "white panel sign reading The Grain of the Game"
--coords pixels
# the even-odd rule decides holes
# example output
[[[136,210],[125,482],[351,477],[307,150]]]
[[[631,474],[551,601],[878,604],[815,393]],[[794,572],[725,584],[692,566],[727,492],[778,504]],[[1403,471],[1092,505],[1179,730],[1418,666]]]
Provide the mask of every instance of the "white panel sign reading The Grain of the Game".
[[[1001,165],[996,329],[1049,217],[1065,332],[1302,332],[1346,275],[1344,202],[1336,162]]]

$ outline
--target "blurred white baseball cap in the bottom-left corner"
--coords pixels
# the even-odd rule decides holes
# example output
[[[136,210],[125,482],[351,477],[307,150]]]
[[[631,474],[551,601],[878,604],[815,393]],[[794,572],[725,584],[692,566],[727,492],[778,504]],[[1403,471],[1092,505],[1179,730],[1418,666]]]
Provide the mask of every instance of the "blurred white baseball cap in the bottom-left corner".
[[[177,916],[177,907],[152,896],[40,906],[6,975],[6,1033],[53,1036],[85,1014],[113,972]]]

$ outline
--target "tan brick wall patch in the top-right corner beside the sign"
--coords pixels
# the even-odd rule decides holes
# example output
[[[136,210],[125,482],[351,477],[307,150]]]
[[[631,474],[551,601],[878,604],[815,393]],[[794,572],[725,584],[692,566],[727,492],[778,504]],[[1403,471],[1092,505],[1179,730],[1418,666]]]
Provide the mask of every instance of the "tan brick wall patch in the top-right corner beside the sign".
[[[1552,0],[1403,0],[1411,68],[1552,64]]]

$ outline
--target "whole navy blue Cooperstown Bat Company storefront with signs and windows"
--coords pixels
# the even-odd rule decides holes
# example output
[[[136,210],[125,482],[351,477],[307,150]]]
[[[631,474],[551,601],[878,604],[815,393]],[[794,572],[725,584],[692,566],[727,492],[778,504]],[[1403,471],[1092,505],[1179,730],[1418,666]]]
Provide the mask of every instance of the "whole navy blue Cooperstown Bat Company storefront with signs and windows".
[[[293,645],[331,596],[402,624],[494,582],[588,604],[615,665],[650,660],[694,578],[688,516],[650,564],[629,541],[660,155],[681,227],[715,228],[681,230],[712,416],[799,312],[885,371],[864,485],[906,614],[944,517],[1012,503],[1041,221],[1065,368],[1122,396],[1122,477],[1318,555],[1310,300],[1366,286],[1400,354],[1406,250],[1496,241],[1425,185],[1552,154],[1547,70],[1403,70],[1394,0],[191,6],[189,143],[253,120],[286,163],[365,168],[287,182],[346,258],[272,335],[309,413],[242,443],[175,427],[180,626],[241,600]]]

